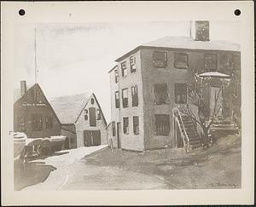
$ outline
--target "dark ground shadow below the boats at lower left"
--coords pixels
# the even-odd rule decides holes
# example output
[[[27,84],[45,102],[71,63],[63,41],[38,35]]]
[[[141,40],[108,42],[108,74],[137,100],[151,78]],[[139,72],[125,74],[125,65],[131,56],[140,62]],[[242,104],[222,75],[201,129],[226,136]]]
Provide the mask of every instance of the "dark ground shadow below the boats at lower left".
[[[15,160],[15,191],[20,191],[24,187],[32,186],[44,182],[49,173],[56,170],[51,165],[45,165],[44,162],[23,163],[23,160]]]

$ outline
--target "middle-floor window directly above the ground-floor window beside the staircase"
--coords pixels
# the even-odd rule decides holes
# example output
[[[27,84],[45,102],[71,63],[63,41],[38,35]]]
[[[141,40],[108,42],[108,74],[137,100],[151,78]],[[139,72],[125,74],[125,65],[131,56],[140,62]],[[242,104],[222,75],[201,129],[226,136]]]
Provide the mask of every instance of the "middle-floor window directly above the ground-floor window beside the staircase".
[[[168,99],[167,84],[160,83],[154,84],[154,104],[162,105],[166,104]]]

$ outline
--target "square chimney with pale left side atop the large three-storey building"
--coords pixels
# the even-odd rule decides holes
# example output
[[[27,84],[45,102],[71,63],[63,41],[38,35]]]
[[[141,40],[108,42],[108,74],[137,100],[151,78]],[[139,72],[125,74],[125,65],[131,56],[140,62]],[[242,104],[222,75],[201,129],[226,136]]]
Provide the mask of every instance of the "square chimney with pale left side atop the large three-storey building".
[[[210,41],[208,20],[190,21],[190,37],[195,41]]]

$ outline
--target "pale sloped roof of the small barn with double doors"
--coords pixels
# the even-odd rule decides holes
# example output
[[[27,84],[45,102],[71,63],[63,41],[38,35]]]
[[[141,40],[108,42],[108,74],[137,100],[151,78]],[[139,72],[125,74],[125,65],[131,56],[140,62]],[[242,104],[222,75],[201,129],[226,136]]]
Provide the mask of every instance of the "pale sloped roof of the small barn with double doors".
[[[61,124],[74,124],[80,112],[90,99],[91,93],[65,95],[53,98],[50,102]]]

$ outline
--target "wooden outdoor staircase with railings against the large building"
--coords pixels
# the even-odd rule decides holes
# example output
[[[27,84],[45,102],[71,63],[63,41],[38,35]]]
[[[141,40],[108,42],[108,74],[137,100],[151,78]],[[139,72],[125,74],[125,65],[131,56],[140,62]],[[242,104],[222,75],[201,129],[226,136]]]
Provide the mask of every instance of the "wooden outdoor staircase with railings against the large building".
[[[192,118],[179,112],[177,108],[173,114],[175,115],[175,120],[179,129],[178,134],[183,138],[183,147],[186,151],[201,147],[201,138],[197,133]]]

